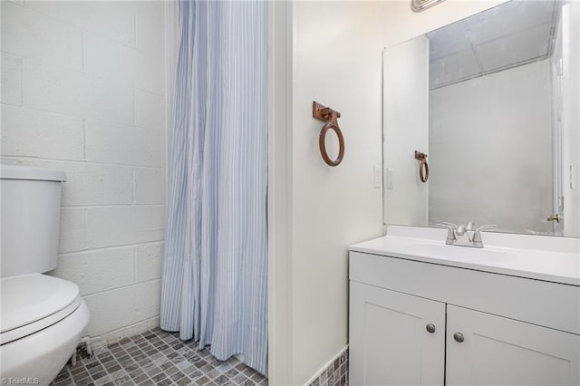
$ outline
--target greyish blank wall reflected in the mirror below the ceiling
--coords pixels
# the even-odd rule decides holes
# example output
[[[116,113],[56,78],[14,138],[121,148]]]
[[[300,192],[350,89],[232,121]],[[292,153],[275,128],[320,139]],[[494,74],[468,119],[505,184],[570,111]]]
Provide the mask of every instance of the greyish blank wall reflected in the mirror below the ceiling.
[[[549,60],[430,92],[430,226],[552,232]]]

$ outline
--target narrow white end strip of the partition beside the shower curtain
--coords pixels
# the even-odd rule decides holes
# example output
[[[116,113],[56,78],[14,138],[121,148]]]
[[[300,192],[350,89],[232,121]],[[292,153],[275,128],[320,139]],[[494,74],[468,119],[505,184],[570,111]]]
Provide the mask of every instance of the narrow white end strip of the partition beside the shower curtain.
[[[292,8],[268,7],[268,380],[292,379]]]

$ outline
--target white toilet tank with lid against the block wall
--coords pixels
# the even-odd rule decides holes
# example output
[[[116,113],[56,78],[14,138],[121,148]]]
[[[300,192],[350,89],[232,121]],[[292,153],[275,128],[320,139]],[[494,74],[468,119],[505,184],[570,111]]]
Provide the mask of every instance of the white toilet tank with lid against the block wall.
[[[56,268],[63,171],[0,165],[0,277]]]

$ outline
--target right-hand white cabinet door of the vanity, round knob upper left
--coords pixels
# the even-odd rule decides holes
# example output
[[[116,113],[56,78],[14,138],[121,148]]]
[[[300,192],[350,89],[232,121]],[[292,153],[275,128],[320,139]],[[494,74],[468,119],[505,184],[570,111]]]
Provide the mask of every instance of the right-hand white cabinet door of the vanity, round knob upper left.
[[[578,385],[579,349],[572,333],[447,306],[449,386]]]

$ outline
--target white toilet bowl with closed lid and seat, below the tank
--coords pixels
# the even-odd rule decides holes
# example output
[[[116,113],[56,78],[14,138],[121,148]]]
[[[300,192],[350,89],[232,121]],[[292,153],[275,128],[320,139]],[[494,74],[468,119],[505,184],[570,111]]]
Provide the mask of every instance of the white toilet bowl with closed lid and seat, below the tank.
[[[47,385],[81,340],[89,310],[71,282],[40,274],[0,280],[3,384]]]

